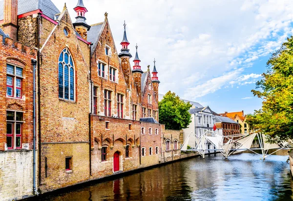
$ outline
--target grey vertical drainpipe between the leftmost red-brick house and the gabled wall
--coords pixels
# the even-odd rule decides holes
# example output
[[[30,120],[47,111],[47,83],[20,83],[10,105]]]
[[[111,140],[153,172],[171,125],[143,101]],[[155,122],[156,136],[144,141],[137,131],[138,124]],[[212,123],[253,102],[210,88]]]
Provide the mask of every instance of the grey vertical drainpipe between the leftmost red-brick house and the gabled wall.
[[[33,64],[33,191],[37,194],[36,188],[36,65],[37,60],[32,60]]]

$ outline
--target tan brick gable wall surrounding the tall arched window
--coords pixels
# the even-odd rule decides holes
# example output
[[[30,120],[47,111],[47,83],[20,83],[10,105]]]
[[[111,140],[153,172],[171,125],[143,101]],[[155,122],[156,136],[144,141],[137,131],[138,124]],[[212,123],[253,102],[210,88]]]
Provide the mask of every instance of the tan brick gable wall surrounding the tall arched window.
[[[89,179],[89,68],[85,62],[89,53],[85,56],[82,54],[67,15],[65,11],[48,40],[42,39],[47,41],[42,48],[40,67],[42,192]],[[69,31],[68,36],[64,35],[64,28]],[[59,98],[58,60],[64,48],[70,52],[75,68],[74,101]],[[65,157],[72,157],[72,171],[65,170]]]

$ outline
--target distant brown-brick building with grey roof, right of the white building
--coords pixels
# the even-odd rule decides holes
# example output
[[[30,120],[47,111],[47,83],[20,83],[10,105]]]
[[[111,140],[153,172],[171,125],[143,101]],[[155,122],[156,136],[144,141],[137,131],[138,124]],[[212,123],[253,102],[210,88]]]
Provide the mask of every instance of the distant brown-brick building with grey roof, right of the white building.
[[[216,127],[222,128],[223,136],[231,136],[240,134],[240,125],[236,121],[232,121],[228,117],[216,116]],[[233,138],[233,140],[239,137]],[[226,143],[229,139],[224,138],[223,143]]]

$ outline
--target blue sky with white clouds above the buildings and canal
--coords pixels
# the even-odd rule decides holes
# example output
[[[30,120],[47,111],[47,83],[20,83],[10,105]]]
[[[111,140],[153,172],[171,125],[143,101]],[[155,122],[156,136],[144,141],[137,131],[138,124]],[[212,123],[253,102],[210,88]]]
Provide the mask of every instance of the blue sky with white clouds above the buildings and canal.
[[[75,21],[78,0],[52,1],[60,10],[66,2]],[[84,0],[84,6],[88,24],[108,13],[117,48],[126,20],[128,47],[134,58],[137,43],[142,70],[152,70],[156,59],[159,93],[170,90],[217,113],[261,108],[251,90],[293,35],[292,0]]]

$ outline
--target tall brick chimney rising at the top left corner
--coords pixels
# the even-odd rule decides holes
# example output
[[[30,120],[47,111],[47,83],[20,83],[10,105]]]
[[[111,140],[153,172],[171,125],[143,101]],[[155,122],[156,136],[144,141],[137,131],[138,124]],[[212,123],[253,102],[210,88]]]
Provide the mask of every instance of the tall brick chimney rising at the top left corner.
[[[3,31],[9,38],[17,40],[18,0],[4,0]]]

